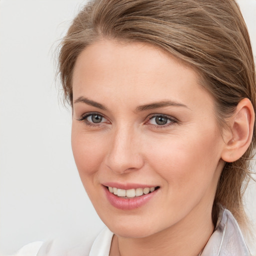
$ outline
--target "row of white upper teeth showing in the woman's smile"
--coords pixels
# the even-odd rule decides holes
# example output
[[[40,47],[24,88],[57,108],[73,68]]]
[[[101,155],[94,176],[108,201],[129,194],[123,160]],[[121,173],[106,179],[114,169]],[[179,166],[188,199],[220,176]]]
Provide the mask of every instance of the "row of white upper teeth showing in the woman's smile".
[[[113,193],[117,196],[120,196],[120,197],[129,197],[129,198],[132,198],[132,197],[135,197],[135,196],[140,196],[142,194],[148,194],[149,192],[153,192],[155,190],[155,187],[145,187],[145,188],[132,188],[132,189],[121,189],[121,188],[116,188],[116,187],[111,187],[111,186],[108,186],[108,190],[110,193]]]

